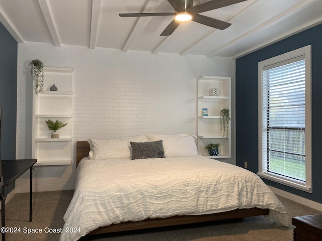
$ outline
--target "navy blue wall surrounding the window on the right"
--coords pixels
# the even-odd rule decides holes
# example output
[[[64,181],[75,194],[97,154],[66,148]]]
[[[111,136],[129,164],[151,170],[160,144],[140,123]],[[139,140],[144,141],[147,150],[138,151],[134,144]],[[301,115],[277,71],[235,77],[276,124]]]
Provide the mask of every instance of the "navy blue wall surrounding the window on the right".
[[[258,62],[312,46],[312,177],[313,193],[265,180],[273,187],[322,203],[322,24],[236,60],[236,165],[258,172]]]

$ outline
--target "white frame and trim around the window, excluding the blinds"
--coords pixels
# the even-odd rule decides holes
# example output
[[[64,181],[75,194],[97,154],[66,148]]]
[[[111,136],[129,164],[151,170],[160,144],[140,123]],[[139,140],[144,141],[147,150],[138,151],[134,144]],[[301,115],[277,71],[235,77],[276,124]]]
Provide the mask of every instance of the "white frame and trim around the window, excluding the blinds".
[[[262,135],[265,130],[262,127],[262,74],[266,66],[278,64],[299,56],[305,59],[305,182],[284,177],[275,173],[267,172],[264,168]],[[258,150],[259,150],[259,170],[257,175],[265,179],[294,187],[312,193],[312,148],[311,148],[311,45],[263,60],[258,63]]]

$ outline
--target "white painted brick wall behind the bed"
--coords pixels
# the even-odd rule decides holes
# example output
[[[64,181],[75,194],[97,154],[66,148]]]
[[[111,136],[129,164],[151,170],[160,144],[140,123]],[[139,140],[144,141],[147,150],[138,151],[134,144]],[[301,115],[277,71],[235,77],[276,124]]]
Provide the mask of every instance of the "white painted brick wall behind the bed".
[[[196,133],[196,78],[231,76],[235,61],[143,51],[18,44],[17,158],[31,157],[32,80],[29,62],[73,69],[73,143],[90,137]],[[59,86],[57,86],[59,88]],[[75,149],[75,148],[74,148]],[[34,190],[74,188],[70,166],[35,167]],[[27,192],[29,175],[16,182]]]

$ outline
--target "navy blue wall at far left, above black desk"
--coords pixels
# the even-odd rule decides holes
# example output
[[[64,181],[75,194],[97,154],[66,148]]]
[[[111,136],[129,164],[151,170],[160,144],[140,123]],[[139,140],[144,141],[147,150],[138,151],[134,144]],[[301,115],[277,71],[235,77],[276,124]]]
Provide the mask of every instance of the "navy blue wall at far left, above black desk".
[[[17,41],[0,23],[1,158],[16,158]],[[9,191],[14,184],[9,187]]]

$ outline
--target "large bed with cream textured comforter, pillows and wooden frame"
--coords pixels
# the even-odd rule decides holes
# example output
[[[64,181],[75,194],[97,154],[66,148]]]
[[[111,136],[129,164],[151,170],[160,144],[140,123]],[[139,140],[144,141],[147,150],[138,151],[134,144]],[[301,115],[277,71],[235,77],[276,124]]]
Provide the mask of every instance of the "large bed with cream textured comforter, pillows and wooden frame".
[[[76,165],[61,241],[257,215],[288,226],[284,206],[256,174],[199,156],[189,134],[77,141]]]

